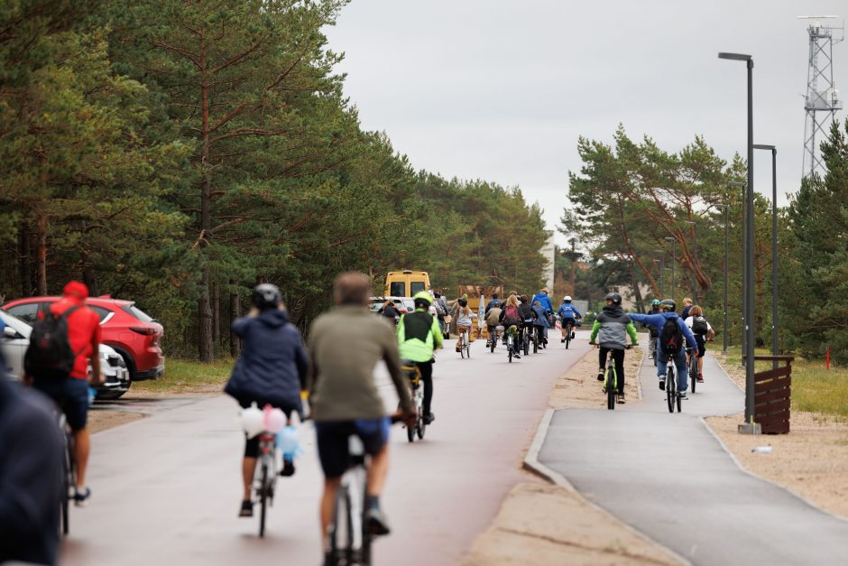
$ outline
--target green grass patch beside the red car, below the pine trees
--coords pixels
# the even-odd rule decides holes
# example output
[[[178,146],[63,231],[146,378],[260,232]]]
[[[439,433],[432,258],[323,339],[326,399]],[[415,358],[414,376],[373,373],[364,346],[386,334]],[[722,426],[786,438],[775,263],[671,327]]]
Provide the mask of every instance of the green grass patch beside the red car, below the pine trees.
[[[185,394],[220,391],[233,371],[233,363],[230,357],[211,364],[169,357],[165,360],[164,376],[150,381],[135,382],[130,392]]]

